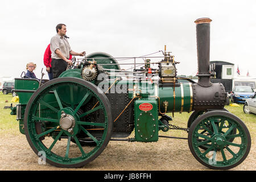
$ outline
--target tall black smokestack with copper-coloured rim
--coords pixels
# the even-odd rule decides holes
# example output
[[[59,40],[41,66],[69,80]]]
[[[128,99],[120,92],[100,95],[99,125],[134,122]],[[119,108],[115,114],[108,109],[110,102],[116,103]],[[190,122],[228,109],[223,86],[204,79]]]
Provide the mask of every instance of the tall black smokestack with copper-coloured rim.
[[[197,63],[200,86],[210,86],[210,22],[209,18],[199,18],[196,23],[196,42],[197,42]]]

